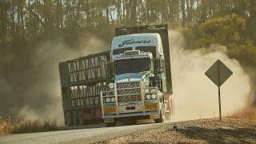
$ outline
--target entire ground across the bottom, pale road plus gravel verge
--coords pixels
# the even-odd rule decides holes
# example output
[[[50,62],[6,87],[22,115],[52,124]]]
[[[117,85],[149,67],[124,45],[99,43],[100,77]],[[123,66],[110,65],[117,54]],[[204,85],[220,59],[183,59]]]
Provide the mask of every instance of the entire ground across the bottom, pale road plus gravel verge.
[[[206,119],[34,134],[11,134],[0,143],[256,143],[256,123],[242,119]]]

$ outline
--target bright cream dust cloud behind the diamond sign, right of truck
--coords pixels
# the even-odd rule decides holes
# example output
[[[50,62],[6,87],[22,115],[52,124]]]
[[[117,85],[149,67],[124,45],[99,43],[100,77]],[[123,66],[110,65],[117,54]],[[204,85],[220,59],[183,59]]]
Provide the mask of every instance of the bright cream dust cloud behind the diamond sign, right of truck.
[[[173,121],[218,117],[218,87],[205,75],[217,59],[234,73],[221,87],[222,115],[246,106],[250,78],[236,59],[228,58],[225,46],[212,44],[206,49],[186,50],[182,34],[170,30],[169,35],[175,101]]]

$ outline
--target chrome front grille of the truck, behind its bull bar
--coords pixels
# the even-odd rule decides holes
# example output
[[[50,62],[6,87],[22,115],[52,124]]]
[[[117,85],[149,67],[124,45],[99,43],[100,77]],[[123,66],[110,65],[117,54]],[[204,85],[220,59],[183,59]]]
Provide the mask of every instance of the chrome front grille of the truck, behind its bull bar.
[[[117,83],[118,102],[142,101],[140,82]]]

